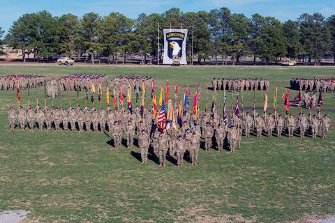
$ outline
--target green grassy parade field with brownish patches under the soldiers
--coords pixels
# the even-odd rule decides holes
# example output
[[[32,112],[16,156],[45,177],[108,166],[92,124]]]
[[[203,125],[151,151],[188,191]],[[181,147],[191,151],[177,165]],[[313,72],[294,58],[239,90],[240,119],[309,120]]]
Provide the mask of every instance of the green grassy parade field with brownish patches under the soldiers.
[[[263,77],[271,84],[269,110],[277,85],[283,114],[280,98],[291,77],[332,77],[335,68],[0,66],[1,75],[58,77],[75,72],[105,73],[110,78],[149,75],[156,86],[168,79],[179,84],[179,98],[186,84],[193,95],[201,83],[202,107],[204,86],[213,77]],[[212,93],[209,90],[208,98]],[[295,93],[291,91],[291,100]],[[21,94],[27,107],[27,91]],[[43,104],[44,89],[31,90],[34,105],[36,95]],[[82,106],[83,97],[80,93]],[[63,98],[65,107],[69,98],[69,94]],[[75,102],[75,93],[71,98]],[[259,110],[263,98],[264,92],[258,91]],[[325,93],[321,110],[333,121],[334,99],[335,93]],[[54,100],[55,105],[59,102]],[[0,211],[28,210],[27,222],[292,222],[335,215],[334,122],[327,140],[242,138],[237,153],[201,150],[198,166],[185,163],[178,169],[168,162],[168,167],[159,168],[154,155],[149,155],[148,164],[141,164],[137,147],[115,150],[108,133],[12,131],[7,111],[17,105],[16,93],[0,91],[0,104]],[[219,112],[222,106],[223,91],[217,95]],[[244,107],[251,111],[253,92],[244,92]],[[299,109],[292,107],[290,112],[297,114]]]

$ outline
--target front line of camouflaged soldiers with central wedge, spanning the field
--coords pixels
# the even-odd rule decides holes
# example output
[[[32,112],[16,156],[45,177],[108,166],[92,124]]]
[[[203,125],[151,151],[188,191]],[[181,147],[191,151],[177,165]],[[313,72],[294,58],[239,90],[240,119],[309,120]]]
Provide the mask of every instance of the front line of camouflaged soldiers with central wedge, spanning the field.
[[[315,139],[319,134],[322,139],[326,139],[331,123],[327,114],[321,116],[320,112],[313,116],[302,113],[297,117],[288,112],[281,116],[276,111],[274,114],[262,115],[257,112],[234,113],[230,118],[225,118],[218,112],[205,111],[199,114],[195,116],[193,112],[188,112],[181,124],[173,123],[168,125],[170,128],[158,128],[158,118],[154,118],[151,110],[141,114],[139,107],[129,112],[124,107],[113,110],[111,107],[97,109],[94,106],[91,109],[82,109],[80,106],[68,109],[37,106],[33,109],[29,106],[25,110],[20,106],[17,111],[10,108],[8,120],[12,129],[18,124],[22,130],[29,128],[31,131],[34,128],[45,128],[47,131],[107,131],[112,134],[115,148],[121,146],[122,137],[126,139],[126,146],[133,148],[136,134],[142,163],[147,162],[148,151],[152,149],[160,166],[165,165],[169,154],[177,161],[178,167],[182,166],[183,160],[197,164],[200,139],[203,139],[206,151],[214,148],[217,151],[229,149],[234,152],[241,146],[242,135],[250,137],[251,132],[257,137],[282,137],[285,133],[291,138],[296,133],[301,138],[310,134]],[[175,115],[178,115],[177,109]]]

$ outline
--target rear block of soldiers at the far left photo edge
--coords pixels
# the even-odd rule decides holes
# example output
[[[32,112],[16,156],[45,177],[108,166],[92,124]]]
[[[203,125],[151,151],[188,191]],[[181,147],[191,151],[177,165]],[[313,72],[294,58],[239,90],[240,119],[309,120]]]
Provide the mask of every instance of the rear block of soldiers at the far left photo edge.
[[[16,90],[17,84],[20,89],[34,89],[43,86],[45,76],[40,75],[7,75],[0,76],[0,90]]]

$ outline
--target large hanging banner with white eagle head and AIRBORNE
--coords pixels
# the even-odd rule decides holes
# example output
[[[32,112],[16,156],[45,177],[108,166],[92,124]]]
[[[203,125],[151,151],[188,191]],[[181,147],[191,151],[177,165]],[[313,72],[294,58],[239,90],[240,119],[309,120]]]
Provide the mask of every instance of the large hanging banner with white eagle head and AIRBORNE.
[[[186,61],[187,29],[164,29],[164,64],[172,64],[173,56],[178,56],[180,64]]]

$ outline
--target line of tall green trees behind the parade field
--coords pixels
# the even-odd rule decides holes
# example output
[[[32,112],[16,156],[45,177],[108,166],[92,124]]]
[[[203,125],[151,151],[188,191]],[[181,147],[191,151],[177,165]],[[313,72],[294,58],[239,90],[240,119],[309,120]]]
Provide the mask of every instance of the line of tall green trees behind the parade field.
[[[335,15],[325,18],[320,13],[300,15],[297,20],[281,22],[275,17],[254,14],[251,17],[231,13],[228,8],[209,12],[183,13],[170,8],[165,13],[144,13],[133,20],[121,13],[101,16],[87,13],[82,17],[73,14],[54,17],[47,11],[24,14],[3,36],[0,28],[0,45],[8,45],[22,52],[22,60],[34,54],[36,61],[47,61],[55,56],[71,56],[85,61],[101,58],[116,63],[117,56],[139,54],[142,63],[148,57],[157,57],[158,22],[163,26],[194,25],[194,55],[199,63],[210,57],[222,65],[239,62],[241,56],[250,56],[253,63],[262,59],[266,64],[282,56],[305,63],[320,64],[325,54],[335,57]],[[190,33],[191,34],[191,33]],[[163,43],[163,35],[160,35]],[[188,35],[186,54],[191,57],[191,38]],[[1,40],[2,39],[2,40]],[[0,47],[0,54],[3,50]],[[334,59],[335,64],[335,59]]]

